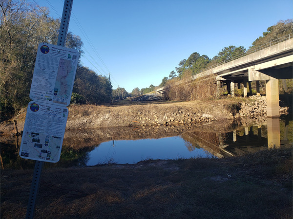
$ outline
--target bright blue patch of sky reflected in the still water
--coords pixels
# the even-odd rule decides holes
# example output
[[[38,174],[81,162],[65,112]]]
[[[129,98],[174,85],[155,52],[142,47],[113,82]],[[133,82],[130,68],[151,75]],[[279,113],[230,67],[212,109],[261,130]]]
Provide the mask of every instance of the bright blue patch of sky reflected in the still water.
[[[187,142],[180,136],[161,139],[109,141],[89,152],[86,165],[103,163],[136,164],[147,159],[179,159],[211,157],[203,148],[189,151]]]

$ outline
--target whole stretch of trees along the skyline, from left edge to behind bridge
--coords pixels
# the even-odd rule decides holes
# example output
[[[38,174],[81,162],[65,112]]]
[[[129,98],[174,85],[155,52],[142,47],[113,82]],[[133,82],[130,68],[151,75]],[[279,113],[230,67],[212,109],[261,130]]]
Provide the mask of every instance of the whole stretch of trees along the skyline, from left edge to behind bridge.
[[[46,7],[38,7],[25,0],[1,1],[0,10],[0,110],[3,121],[14,116],[30,101],[29,91],[38,45],[41,42],[56,44],[60,20],[50,17]],[[292,19],[279,21],[269,27],[263,36],[255,39],[248,50],[243,46],[228,46],[213,58],[194,52],[187,59],[181,60],[178,67],[162,79],[160,85],[134,88],[131,93],[124,88],[112,90],[109,78],[97,74],[79,61],[71,103],[99,105],[155,91],[232,56],[246,53],[266,42],[291,34],[292,30]],[[68,33],[65,46],[78,50],[80,56],[84,54],[83,41],[74,33]]]

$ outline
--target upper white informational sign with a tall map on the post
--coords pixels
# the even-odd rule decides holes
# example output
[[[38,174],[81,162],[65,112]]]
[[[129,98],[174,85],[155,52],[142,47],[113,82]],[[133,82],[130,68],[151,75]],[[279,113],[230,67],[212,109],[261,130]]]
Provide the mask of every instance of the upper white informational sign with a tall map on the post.
[[[29,97],[59,106],[70,104],[79,52],[40,43]]]

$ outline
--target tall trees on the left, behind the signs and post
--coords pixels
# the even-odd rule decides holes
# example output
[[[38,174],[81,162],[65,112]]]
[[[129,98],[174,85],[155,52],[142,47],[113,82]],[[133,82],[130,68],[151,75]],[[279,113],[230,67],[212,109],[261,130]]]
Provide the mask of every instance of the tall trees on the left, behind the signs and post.
[[[56,44],[60,20],[46,7],[25,0],[0,1],[0,110],[1,121],[26,107],[38,45]],[[81,37],[69,32],[66,47],[83,55]],[[111,100],[111,84],[81,62],[78,63],[72,103],[101,104]]]

